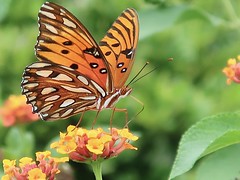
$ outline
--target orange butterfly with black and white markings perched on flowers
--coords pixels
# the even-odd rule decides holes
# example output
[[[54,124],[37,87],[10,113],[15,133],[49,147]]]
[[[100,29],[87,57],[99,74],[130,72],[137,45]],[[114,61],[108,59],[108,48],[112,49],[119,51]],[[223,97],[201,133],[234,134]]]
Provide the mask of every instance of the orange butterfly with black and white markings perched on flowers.
[[[38,17],[35,54],[39,61],[25,68],[21,87],[41,119],[113,109],[131,93],[125,83],[139,36],[134,9],[126,9],[99,44],[73,14],[57,4],[45,2]]]

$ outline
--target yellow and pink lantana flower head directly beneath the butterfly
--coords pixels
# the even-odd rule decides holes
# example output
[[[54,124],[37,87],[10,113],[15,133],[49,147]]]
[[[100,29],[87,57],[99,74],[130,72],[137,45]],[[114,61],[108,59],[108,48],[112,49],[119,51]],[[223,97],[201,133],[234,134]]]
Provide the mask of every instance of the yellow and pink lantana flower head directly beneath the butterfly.
[[[71,136],[68,137],[68,136]],[[63,144],[68,144],[68,140],[76,145],[75,149],[66,151]],[[96,161],[98,159],[108,159],[119,155],[126,149],[137,150],[129,141],[136,141],[128,129],[112,128],[110,132],[102,128],[87,130],[75,126],[69,126],[67,133],[60,133],[60,140],[51,144],[59,153],[68,154],[69,158],[79,162]]]

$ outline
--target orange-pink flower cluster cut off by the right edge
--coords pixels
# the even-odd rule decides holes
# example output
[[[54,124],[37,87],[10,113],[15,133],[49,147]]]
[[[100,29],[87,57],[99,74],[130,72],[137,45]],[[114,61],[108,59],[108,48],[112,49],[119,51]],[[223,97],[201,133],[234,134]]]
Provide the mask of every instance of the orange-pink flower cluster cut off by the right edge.
[[[230,58],[227,61],[227,67],[225,67],[222,72],[227,76],[227,84],[231,84],[232,81],[235,83],[240,83],[240,56],[235,58]]]

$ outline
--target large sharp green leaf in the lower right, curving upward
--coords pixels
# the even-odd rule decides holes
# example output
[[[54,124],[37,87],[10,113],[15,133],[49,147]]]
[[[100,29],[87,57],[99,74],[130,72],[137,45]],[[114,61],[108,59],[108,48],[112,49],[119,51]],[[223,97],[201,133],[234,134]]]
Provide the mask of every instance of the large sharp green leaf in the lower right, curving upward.
[[[182,136],[169,179],[189,171],[199,158],[239,142],[239,112],[202,119]]]

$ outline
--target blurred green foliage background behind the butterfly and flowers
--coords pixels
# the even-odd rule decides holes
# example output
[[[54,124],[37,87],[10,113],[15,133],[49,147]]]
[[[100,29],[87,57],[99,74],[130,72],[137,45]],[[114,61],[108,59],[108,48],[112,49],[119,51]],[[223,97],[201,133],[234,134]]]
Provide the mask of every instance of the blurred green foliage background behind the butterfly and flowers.
[[[37,14],[44,1],[0,0],[0,103],[20,94],[24,68],[36,61]],[[133,77],[146,61],[145,72],[157,70],[132,85],[132,95],[144,103],[144,111],[129,128],[140,136],[139,150],[124,152],[103,165],[104,179],[167,179],[184,131],[201,118],[239,109],[239,87],[227,86],[222,68],[239,55],[239,0],[68,0],[52,1],[72,12],[99,41],[127,7],[140,18],[140,39]],[[173,58],[172,62],[167,61]],[[141,105],[127,97],[118,103],[134,117]],[[91,127],[95,112],[87,112],[82,126]],[[103,111],[96,126],[108,126],[110,110]],[[79,116],[57,122],[38,121],[25,130],[33,134],[42,151],[48,143],[76,124]],[[124,125],[124,114],[115,113],[114,126]],[[0,127],[0,146],[6,145],[11,128]],[[18,147],[15,147],[16,149]],[[15,152],[15,155],[17,150]],[[21,157],[26,154],[17,154]],[[16,158],[13,157],[12,158]],[[11,158],[11,155],[8,157]],[[93,179],[84,164],[70,163],[75,179]],[[194,169],[185,179],[194,179]]]

